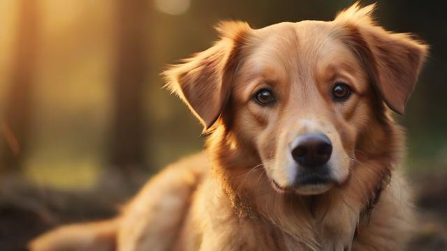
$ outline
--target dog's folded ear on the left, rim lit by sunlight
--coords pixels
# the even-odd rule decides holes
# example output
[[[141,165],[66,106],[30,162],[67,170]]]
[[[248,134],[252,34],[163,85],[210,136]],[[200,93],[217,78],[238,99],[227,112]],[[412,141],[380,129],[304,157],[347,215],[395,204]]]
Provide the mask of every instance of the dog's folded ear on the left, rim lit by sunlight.
[[[217,26],[221,40],[163,72],[168,89],[182,98],[204,131],[217,121],[230,95],[243,40],[250,30],[244,22],[221,22]]]

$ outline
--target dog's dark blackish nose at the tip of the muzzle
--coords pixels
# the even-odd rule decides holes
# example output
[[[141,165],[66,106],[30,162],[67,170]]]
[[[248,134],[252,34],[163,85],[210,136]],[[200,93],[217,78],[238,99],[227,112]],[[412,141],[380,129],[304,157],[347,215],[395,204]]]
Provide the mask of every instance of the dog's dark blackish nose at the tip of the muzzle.
[[[328,162],[332,144],[328,136],[309,134],[298,137],[293,144],[292,157],[304,167],[318,167]]]

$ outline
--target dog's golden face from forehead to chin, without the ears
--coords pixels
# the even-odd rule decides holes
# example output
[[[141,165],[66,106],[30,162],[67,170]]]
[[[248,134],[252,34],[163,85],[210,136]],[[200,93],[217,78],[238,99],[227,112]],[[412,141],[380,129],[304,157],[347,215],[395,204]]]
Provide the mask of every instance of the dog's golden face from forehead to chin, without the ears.
[[[260,29],[234,78],[233,130],[254,144],[281,192],[343,183],[372,114],[365,70],[332,32],[317,21]]]

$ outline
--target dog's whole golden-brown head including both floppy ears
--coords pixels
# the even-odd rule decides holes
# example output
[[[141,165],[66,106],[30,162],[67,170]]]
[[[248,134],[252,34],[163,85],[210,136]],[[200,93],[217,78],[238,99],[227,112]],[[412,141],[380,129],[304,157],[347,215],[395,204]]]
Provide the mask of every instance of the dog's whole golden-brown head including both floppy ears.
[[[222,23],[219,42],[165,72],[168,86],[230,149],[252,149],[276,190],[320,194],[346,181],[357,151],[381,148],[427,54],[377,26],[373,9],[256,30]]]

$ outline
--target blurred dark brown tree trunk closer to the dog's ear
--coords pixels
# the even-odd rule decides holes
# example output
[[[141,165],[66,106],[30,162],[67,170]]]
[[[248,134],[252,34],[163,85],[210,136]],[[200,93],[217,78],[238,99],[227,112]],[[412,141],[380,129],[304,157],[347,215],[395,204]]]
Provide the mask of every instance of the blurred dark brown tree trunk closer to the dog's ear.
[[[145,167],[147,121],[143,110],[147,73],[147,0],[117,0],[117,58],[110,164],[128,178]]]

